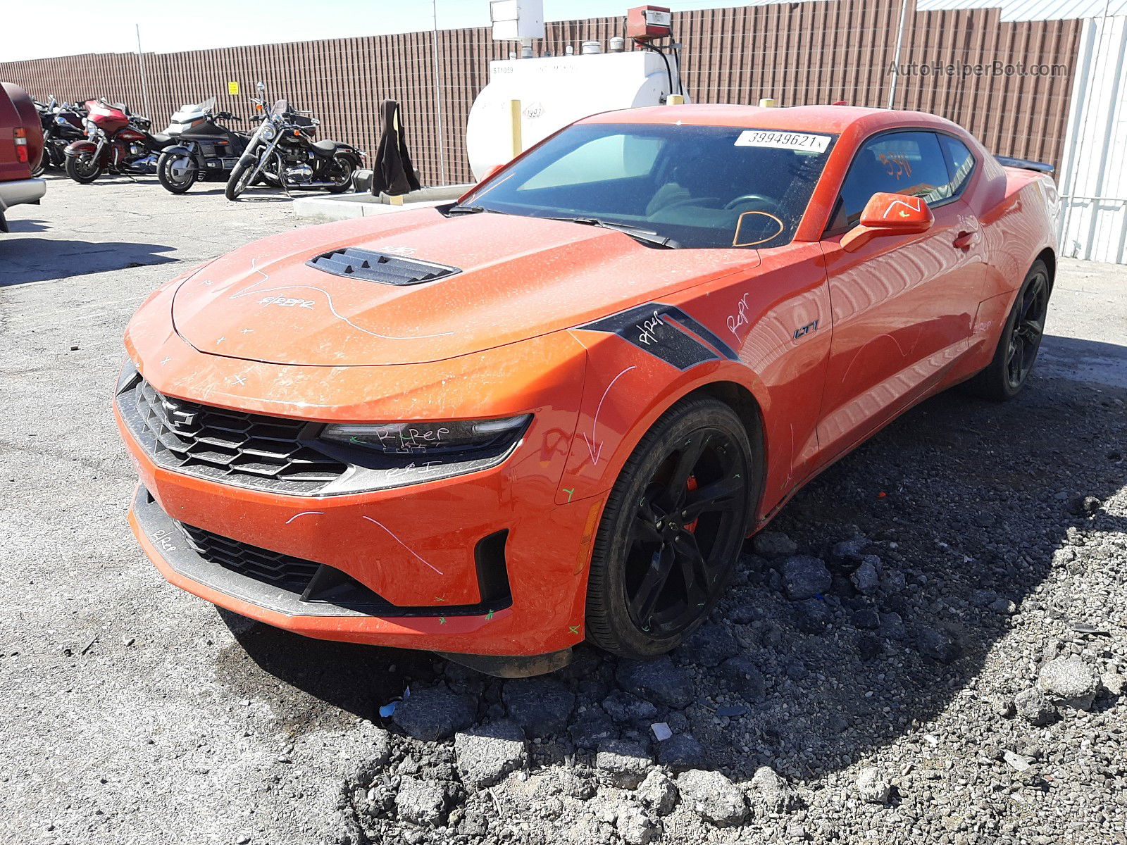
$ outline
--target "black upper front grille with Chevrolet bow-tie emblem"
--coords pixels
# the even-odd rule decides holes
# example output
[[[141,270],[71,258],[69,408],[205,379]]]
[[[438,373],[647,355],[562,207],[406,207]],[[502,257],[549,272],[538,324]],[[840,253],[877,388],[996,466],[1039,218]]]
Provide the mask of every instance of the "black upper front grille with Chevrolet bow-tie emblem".
[[[312,496],[348,470],[314,447],[308,432],[318,424],[171,399],[143,379],[117,395],[117,407],[157,464],[189,475]]]

